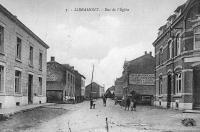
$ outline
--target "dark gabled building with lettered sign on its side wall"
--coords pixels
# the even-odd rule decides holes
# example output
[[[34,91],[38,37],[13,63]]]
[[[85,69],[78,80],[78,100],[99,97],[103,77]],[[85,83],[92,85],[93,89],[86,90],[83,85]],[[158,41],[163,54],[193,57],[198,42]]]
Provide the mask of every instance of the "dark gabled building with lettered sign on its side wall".
[[[136,92],[140,104],[151,104],[155,96],[155,58],[152,53],[147,53],[132,61],[124,63],[123,96],[131,96]]]

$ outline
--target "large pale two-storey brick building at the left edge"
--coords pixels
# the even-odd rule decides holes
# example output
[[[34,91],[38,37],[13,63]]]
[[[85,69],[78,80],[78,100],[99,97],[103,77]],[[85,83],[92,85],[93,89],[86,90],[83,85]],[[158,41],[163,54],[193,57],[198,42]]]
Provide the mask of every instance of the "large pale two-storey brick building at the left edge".
[[[48,48],[0,5],[0,108],[46,102]]]

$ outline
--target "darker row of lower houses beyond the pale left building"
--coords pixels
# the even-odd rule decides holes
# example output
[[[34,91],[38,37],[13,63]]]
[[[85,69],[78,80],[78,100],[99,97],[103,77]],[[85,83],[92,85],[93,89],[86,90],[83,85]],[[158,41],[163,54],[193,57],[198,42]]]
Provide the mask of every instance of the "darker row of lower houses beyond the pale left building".
[[[51,57],[47,62],[47,102],[81,102],[85,96],[85,77],[69,64]]]

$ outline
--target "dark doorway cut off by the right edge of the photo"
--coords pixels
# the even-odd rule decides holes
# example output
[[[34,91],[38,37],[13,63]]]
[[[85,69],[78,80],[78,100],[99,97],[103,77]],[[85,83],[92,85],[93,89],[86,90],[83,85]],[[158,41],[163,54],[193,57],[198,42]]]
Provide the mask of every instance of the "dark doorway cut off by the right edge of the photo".
[[[200,68],[194,69],[194,89],[193,89],[193,97],[194,97],[194,106],[200,106]]]

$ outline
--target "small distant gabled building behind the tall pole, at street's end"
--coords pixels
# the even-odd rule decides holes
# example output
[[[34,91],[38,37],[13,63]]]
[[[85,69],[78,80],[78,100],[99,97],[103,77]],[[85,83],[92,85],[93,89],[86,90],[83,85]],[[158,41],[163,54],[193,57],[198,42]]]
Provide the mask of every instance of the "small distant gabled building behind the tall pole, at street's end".
[[[89,99],[90,96],[92,98],[100,98],[102,97],[103,94],[104,94],[104,87],[95,82],[92,82],[91,84],[85,87],[85,98],[87,99]]]

